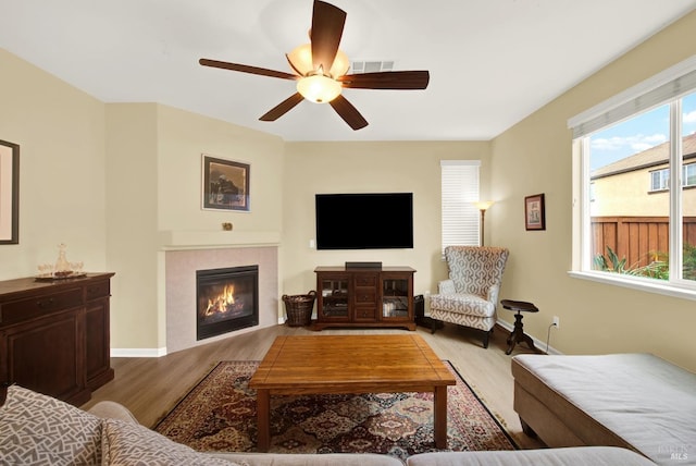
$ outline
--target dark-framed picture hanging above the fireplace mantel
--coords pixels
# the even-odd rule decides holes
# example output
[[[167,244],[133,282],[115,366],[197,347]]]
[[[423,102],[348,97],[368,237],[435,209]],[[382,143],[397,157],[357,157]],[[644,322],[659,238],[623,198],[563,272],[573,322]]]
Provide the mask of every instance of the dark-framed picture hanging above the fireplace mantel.
[[[249,164],[203,154],[203,209],[249,211]]]

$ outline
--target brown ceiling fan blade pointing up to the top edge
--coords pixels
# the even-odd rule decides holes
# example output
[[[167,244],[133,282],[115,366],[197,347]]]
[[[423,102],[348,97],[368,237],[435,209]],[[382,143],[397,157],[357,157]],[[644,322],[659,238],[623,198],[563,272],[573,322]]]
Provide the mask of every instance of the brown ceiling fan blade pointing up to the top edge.
[[[331,70],[336,52],[338,52],[345,23],[345,11],[333,4],[314,0],[312,29],[310,33],[314,70],[318,70],[320,65],[325,73]]]

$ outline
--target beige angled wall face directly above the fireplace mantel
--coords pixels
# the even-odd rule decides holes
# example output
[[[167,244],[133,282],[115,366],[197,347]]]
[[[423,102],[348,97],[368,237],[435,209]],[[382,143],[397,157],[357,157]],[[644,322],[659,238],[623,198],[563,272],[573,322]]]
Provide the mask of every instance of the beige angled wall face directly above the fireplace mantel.
[[[281,230],[283,139],[159,106],[158,140],[159,230]],[[201,209],[201,154],[251,165],[249,212]]]

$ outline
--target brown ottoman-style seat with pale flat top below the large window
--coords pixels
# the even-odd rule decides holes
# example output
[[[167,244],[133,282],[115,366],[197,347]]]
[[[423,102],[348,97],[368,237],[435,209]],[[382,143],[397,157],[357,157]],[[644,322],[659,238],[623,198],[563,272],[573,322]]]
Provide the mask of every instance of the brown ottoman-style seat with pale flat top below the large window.
[[[696,375],[650,354],[519,355],[514,409],[548,446],[611,445],[696,465]]]

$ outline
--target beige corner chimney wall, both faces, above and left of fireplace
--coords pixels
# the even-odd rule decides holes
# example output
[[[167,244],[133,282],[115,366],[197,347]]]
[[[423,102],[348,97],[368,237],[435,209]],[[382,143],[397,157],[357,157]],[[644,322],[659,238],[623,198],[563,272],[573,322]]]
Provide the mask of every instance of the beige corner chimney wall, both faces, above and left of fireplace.
[[[107,106],[112,347],[166,347],[160,232],[281,231],[283,142],[154,103]],[[251,211],[201,209],[201,154],[251,164]]]

